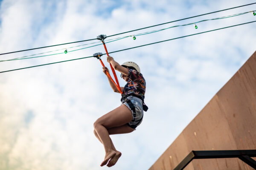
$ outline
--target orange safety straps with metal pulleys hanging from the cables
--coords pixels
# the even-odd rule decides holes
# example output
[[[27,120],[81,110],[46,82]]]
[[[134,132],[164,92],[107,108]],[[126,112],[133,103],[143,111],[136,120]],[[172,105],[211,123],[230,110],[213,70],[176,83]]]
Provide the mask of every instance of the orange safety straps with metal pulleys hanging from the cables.
[[[99,36],[97,36],[97,39],[102,41],[102,43],[103,43],[103,45],[104,45],[104,48],[105,48],[105,51],[106,51],[106,54],[107,54],[107,56],[109,56],[109,55],[108,55],[107,47],[106,47],[105,42],[104,42],[104,39],[105,39],[106,37],[107,37],[106,35],[99,35]],[[95,54],[93,54],[93,57],[98,58],[99,61],[100,61],[101,64],[102,64],[102,66],[105,67],[105,65],[103,64],[103,62],[102,62],[102,60],[101,60],[101,58],[100,58],[101,56],[102,56],[102,53],[95,53]],[[116,76],[116,72],[115,72],[113,66],[111,65],[111,63],[109,63],[109,64],[110,64],[110,67],[111,67],[111,70],[112,70],[112,72],[113,72],[113,75],[114,75],[114,77],[115,77],[116,82],[112,79],[112,77],[111,77],[111,75],[108,73],[108,71],[106,71],[107,76],[111,79],[111,81],[114,83],[114,85],[116,85],[116,88],[118,89],[118,91],[122,94],[122,91],[121,91],[121,88],[120,88],[120,85],[119,85],[119,82],[118,82],[118,79],[117,79],[117,76]]]

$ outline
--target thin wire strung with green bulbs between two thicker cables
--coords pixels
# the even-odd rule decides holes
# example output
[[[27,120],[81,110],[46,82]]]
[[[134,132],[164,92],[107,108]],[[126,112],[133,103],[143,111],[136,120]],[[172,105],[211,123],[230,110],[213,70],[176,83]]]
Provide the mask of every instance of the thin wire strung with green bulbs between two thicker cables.
[[[145,34],[152,34],[152,33],[163,31],[163,30],[170,29],[170,28],[175,28],[175,27],[180,27],[180,26],[189,26],[189,25],[192,25],[192,24],[195,24],[195,23],[201,23],[201,22],[205,22],[205,21],[209,21],[209,20],[219,20],[219,19],[225,19],[225,18],[230,18],[230,17],[236,17],[236,16],[247,14],[247,13],[250,13],[250,12],[253,13],[255,11],[247,11],[247,12],[243,12],[243,13],[239,13],[239,14],[232,14],[232,15],[228,15],[228,16],[224,16],[224,17],[218,17],[218,18],[212,18],[212,19],[207,19],[207,20],[201,20],[201,21],[197,21],[197,22],[194,22],[194,23],[172,26],[172,27],[168,27],[168,28],[163,28],[163,29],[154,30],[154,31],[148,31],[148,32],[134,34],[134,35],[129,35],[129,36],[125,36],[125,37],[118,37],[118,38],[106,40],[105,43],[121,40],[121,39],[124,39],[124,38],[127,38],[127,37],[137,37],[137,36],[141,36],[141,35],[145,35]],[[55,51],[60,51],[60,50],[65,50],[65,49],[67,50],[67,49],[70,49],[70,48],[75,48],[75,47],[80,47],[80,46],[90,45],[90,44],[95,44],[95,43],[99,43],[97,45],[101,45],[100,42],[92,42],[92,43],[88,43],[88,44],[77,45],[77,46],[68,47],[68,48],[62,48],[62,49],[58,49],[58,50],[55,50]],[[94,46],[97,46],[97,45],[92,45],[92,46],[85,47],[85,48],[90,48],[90,47],[94,47]],[[68,52],[78,51],[78,50],[82,50],[82,49],[85,49],[85,48],[79,48],[79,49],[68,51]],[[54,51],[48,51],[48,52],[39,53],[39,54],[46,54],[46,53],[49,53],[49,52],[54,52]],[[23,56],[23,57],[17,57],[17,58],[14,58],[14,59],[0,60],[0,62],[13,61],[13,60],[19,60],[19,59],[32,59],[32,58],[38,58],[38,57],[47,57],[47,56],[52,56],[52,55],[57,55],[57,54],[63,54],[63,52],[62,53],[57,53],[57,54],[49,54],[49,55],[31,57],[31,56],[35,56],[35,55],[39,55],[39,54],[32,54],[32,55]]]

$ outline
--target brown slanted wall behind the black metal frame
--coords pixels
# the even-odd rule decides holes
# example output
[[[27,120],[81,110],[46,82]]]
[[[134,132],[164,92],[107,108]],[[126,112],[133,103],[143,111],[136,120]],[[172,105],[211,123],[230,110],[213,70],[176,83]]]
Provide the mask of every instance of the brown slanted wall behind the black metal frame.
[[[149,170],[173,170],[192,150],[247,149],[256,149],[256,52]],[[195,159],[184,170],[253,168],[240,159],[229,158]]]

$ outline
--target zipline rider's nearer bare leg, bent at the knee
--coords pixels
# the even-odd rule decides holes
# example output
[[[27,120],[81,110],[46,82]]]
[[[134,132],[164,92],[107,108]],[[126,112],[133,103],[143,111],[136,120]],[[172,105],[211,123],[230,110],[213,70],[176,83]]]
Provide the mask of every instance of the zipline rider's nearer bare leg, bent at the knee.
[[[125,105],[121,105],[113,111],[103,115],[94,123],[94,130],[102,141],[106,153],[101,166],[107,164],[108,160],[116,155],[116,151],[111,147],[111,140],[107,129],[125,125],[126,123],[131,122],[131,120],[132,114],[130,109]]]

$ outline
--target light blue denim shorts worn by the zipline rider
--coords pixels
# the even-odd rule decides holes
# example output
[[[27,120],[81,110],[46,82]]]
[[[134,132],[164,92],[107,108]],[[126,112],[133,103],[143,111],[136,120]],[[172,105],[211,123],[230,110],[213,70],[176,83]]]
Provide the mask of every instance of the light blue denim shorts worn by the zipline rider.
[[[131,101],[131,103],[134,105],[134,108],[135,108],[135,114],[134,114],[134,112],[131,110],[128,103],[122,101],[122,104],[126,105],[131,110],[131,113],[132,113],[132,121],[129,122],[127,125],[132,128],[134,127],[136,128],[137,126],[140,125],[143,119],[143,102],[140,98],[135,96],[128,96],[127,99]]]

